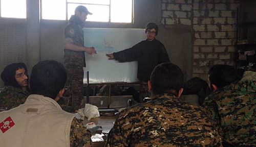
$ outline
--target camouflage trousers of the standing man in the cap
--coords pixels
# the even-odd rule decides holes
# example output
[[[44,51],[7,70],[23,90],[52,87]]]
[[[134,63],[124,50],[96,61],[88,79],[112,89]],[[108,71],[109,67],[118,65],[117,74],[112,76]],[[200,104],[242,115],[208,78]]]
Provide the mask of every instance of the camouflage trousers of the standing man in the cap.
[[[68,81],[67,86],[70,91],[68,106],[81,108],[83,102],[83,67],[65,65]]]

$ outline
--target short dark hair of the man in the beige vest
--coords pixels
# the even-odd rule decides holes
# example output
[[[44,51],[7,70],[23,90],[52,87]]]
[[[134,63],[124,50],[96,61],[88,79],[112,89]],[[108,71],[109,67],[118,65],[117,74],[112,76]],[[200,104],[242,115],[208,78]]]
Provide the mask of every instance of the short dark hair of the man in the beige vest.
[[[55,99],[66,81],[67,72],[61,63],[53,60],[40,61],[32,68],[30,89],[32,94]]]

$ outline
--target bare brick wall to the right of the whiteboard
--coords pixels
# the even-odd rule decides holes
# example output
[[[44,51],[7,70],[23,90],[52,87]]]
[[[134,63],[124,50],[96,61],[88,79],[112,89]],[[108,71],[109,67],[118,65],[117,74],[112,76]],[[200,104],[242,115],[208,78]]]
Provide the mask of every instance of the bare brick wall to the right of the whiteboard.
[[[210,66],[234,65],[237,0],[162,0],[161,23],[191,26],[193,77],[207,79]]]

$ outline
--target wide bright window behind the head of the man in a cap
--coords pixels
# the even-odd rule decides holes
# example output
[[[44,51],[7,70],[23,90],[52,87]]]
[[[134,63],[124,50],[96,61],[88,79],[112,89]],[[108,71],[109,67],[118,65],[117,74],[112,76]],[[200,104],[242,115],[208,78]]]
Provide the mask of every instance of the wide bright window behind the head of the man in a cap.
[[[133,22],[133,0],[41,0],[41,4],[42,19],[69,19],[83,5],[93,13],[87,21]]]

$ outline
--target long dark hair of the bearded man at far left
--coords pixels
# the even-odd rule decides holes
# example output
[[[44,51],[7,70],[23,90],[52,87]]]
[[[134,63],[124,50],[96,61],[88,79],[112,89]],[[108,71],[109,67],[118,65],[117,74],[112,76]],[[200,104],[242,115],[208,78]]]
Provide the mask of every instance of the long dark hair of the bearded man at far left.
[[[27,66],[23,62],[15,62],[7,65],[1,74],[1,79],[4,81],[4,84],[6,86],[22,88],[15,79],[16,70],[22,68],[25,69],[26,73],[28,72]]]

